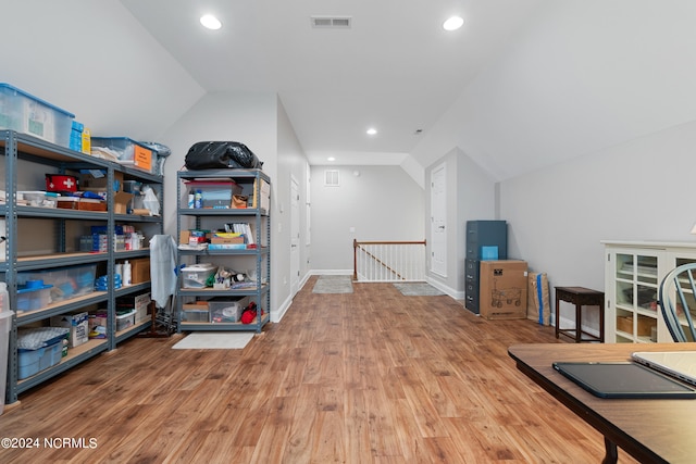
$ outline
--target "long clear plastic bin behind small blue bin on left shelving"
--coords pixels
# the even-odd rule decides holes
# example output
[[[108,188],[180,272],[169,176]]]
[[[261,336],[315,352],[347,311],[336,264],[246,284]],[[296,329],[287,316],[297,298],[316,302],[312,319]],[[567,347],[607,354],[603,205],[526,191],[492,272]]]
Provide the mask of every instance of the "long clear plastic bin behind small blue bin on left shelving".
[[[95,291],[96,275],[97,265],[86,264],[17,273],[17,283],[23,285],[27,280],[44,280],[44,284],[53,286],[50,290],[51,301],[57,302]]]

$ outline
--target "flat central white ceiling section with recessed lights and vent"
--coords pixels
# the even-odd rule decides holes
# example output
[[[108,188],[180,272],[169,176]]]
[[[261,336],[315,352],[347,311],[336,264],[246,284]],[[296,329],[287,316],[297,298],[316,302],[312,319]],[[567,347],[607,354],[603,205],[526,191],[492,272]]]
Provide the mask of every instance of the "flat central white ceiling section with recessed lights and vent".
[[[310,163],[400,164],[540,1],[121,3],[204,90],[277,92]],[[203,29],[203,13],[223,28]],[[453,14],[464,26],[447,33]],[[312,15],[352,27],[312,28]]]

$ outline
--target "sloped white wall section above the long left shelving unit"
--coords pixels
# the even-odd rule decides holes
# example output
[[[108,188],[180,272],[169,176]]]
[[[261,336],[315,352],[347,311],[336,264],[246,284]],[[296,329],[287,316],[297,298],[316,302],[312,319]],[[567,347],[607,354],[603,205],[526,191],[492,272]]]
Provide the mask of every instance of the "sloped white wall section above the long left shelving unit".
[[[92,135],[158,140],[204,90],[116,0],[2,3],[0,81]]]

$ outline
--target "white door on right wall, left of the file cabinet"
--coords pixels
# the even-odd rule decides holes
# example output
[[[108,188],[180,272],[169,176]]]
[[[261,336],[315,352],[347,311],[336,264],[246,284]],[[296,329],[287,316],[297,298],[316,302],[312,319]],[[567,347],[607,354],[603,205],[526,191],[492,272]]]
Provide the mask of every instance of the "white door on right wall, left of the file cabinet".
[[[431,271],[447,277],[447,170],[431,173]]]

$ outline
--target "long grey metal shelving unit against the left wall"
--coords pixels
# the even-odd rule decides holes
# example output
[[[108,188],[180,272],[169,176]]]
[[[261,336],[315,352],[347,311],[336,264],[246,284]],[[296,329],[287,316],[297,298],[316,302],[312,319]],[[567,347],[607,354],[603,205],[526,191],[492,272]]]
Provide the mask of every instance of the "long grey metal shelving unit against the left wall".
[[[99,170],[107,174],[108,185],[113,185],[114,173],[121,172],[125,179],[140,180],[156,190],[160,201],[162,201],[163,179],[162,176],[152,175],[137,170],[126,168],[122,165],[92,158],[84,153],[60,147],[45,140],[15,133],[12,130],[0,130],[0,153],[4,155],[2,163],[4,167],[4,203],[0,204],[0,218],[4,220],[4,230],[2,230],[5,241],[4,261],[0,262],[0,275],[8,285],[10,297],[10,309],[14,311],[9,340],[8,359],[8,388],[5,401],[15,402],[17,394],[27,389],[38,386],[41,383],[54,377],[71,367],[108,350],[115,348],[116,343],[125,340],[138,331],[147,328],[151,322],[145,321],[129,327],[123,331],[115,331],[115,299],[116,297],[137,293],[149,289],[148,284],[135,285],[114,290],[114,276],[109,269],[113,269],[116,260],[125,260],[136,256],[148,256],[147,248],[134,251],[114,250],[113,241],[109,241],[107,252],[91,253],[79,252],[69,244],[70,231],[85,224],[107,225],[107,234],[113,236],[117,223],[138,223],[148,228],[147,235],[162,234],[163,224],[161,217],[135,216],[127,214],[113,214],[114,195],[109,189],[108,212],[94,212],[80,210],[62,210],[57,208],[37,208],[17,204],[17,177],[20,168],[28,171],[45,168],[57,174],[66,172],[79,172],[80,170]],[[28,164],[27,164],[28,163]],[[50,235],[42,246],[52,249],[52,252],[41,255],[25,253],[20,248],[26,249],[26,237],[20,234],[20,224],[25,221],[41,221],[51,224]],[[44,223],[41,223],[44,224]],[[22,247],[21,247],[22,246]],[[17,313],[17,274],[27,271],[46,271],[74,265],[96,265],[98,274],[109,275],[109,290],[94,291],[77,298],[65,299],[50,303],[40,309],[32,309]],[[105,306],[108,310],[108,336],[105,339],[89,340],[69,350],[69,354],[61,361],[47,369],[18,380],[18,355],[17,355],[17,327],[26,325],[42,325],[42,322],[51,316],[66,314],[76,310]]]

